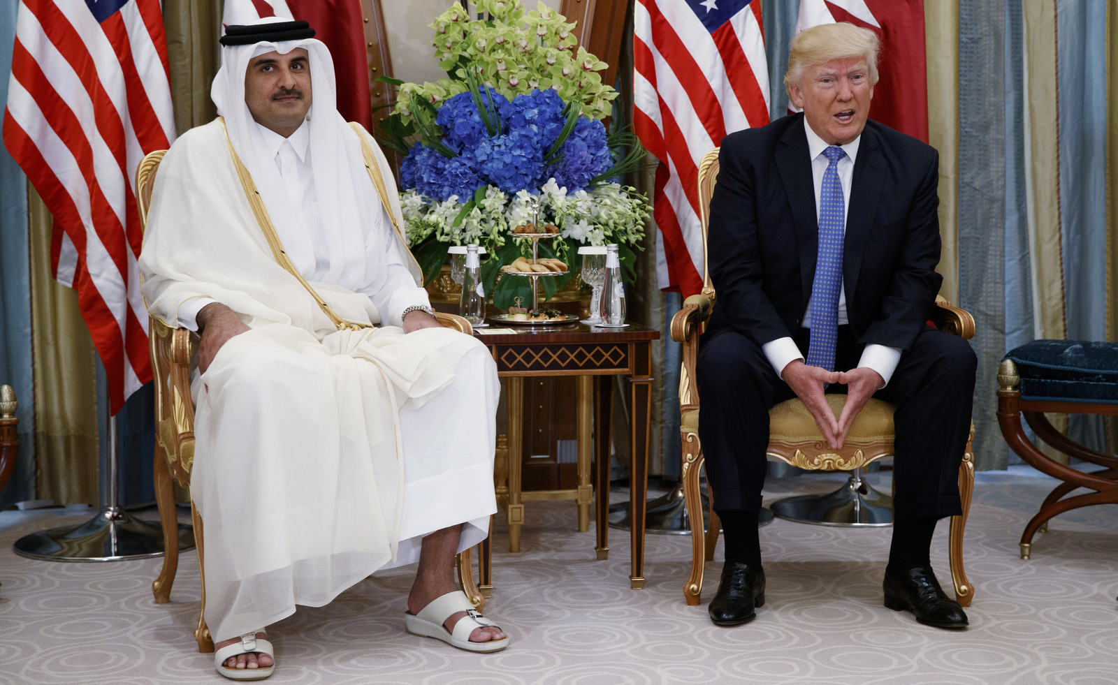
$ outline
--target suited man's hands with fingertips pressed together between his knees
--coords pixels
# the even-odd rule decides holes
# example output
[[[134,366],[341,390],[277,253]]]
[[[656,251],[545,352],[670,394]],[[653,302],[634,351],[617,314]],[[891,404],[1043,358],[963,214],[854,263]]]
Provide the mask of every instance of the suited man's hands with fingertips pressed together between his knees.
[[[818,426],[831,449],[842,448],[858,413],[873,393],[884,386],[881,374],[868,367],[850,371],[827,371],[819,367],[808,367],[798,359],[789,362],[780,375],[815,418],[815,425]],[[831,406],[827,405],[823,392],[825,383],[846,386],[846,406],[843,407],[842,416],[839,418],[835,418]]]

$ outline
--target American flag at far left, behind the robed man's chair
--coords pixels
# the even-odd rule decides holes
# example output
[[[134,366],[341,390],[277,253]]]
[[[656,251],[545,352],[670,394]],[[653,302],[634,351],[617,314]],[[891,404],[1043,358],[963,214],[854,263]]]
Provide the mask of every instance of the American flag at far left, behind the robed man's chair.
[[[3,142],[54,215],[55,278],[78,294],[111,411],[151,380],[134,189],[174,140],[159,0],[21,0]]]

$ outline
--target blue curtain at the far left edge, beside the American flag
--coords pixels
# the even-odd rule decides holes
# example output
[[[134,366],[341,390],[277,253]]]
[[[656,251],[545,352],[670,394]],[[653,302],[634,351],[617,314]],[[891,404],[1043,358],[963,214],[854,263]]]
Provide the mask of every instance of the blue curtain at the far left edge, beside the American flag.
[[[8,102],[18,8],[16,2],[0,6],[0,103]],[[35,497],[35,386],[27,250],[27,177],[0,145],[0,383],[16,390],[20,439],[16,473],[0,492],[0,508]]]

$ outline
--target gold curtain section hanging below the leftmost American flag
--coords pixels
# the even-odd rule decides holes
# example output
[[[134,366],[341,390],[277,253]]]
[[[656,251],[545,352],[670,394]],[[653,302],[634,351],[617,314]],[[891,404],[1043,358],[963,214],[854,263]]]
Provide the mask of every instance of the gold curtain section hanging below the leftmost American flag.
[[[51,217],[27,185],[35,363],[35,484],[55,504],[93,504],[97,486],[97,378],[77,292],[50,274]]]

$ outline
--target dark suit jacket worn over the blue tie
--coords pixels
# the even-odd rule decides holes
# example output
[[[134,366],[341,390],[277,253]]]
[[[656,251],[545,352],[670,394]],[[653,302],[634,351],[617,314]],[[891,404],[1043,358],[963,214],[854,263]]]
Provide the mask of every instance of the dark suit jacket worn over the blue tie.
[[[793,335],[812,295],[818,251],[804,115],[722,140],[708,254],[714,312],[758,345]],[[854,160],[843,247],[846,315],[862,344],[911,350],[935,305],[939,154],[866,122]]]

